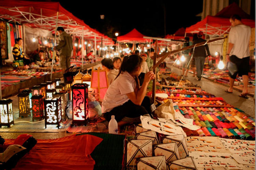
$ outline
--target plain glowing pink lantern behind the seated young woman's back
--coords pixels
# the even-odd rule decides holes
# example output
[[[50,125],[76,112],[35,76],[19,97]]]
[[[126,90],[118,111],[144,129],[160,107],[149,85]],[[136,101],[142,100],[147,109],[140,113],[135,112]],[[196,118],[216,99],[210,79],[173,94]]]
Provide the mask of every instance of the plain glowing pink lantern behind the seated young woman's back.
[[[106,70],[101,70],[100,67],[98,70],[93,70],[91,72],[91,88],[95,89],[95,92],[99,94],[99,101],[103,100],[108,87]]]

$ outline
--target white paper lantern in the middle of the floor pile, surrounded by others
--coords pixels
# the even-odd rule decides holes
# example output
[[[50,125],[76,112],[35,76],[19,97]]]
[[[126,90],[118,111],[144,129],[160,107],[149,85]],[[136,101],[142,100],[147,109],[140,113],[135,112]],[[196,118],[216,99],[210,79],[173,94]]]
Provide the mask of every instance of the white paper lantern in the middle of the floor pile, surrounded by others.
[[[154,155],[165,155],[166,161],[180,159],[179,149],[176,142],[153,145]]]

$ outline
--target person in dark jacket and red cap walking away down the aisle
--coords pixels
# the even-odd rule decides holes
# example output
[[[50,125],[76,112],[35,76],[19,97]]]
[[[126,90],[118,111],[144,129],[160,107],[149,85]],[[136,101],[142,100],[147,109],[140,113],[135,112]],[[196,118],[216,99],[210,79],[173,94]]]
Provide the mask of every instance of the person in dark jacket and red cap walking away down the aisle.
[[[202,36],[203,36],[203,32],[200,31],[198,33],[198,39],[195,39],[193,41],[193,44],[205,42],[206,40],[202,39]],[[206,54],[205,50],[207,51],[207,54]],[[191,48],[191,50],[190,50],[190,55],[192,52],[193,52],[193,48]],[[197,68],[197,80],[199,80],[199,81],[202,79],[203,65],[204,65],[205,57],[207,57],[207,56],[210,56],[210,51],[209,51],[209,47],[207,44],[204,46],[199,46],[199,47],[195,48],[193,57],[195,57],[195,63],[196,63],[196,68]]]

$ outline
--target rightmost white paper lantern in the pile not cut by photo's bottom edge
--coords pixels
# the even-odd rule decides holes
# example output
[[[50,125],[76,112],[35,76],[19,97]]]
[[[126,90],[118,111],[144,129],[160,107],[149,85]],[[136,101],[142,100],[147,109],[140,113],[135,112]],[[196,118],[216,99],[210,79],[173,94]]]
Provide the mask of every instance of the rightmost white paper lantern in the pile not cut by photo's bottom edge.
[[[163,143],[171,142],[177,142],[180,158],[185,158],[188,156],[187,143],[183,134],[163,137]]]

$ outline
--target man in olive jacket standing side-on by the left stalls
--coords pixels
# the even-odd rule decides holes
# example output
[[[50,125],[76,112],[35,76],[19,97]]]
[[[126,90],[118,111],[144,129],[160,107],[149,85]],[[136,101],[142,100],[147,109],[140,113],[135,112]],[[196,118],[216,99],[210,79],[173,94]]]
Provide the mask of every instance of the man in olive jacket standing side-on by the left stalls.
[[[62,72],[65,73],[65,70],[70,67],[70,58],[73,46],[72,38],[62,27],[58,27],[57,31],[60,33],[59,45],[54,47],[54,50],[59,50],[60,67],[62,68]]]

